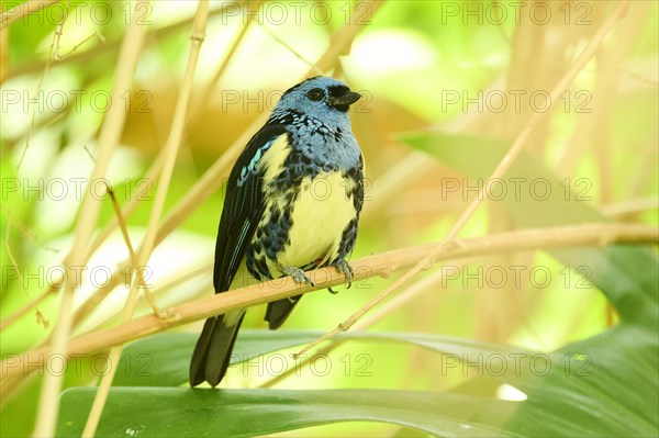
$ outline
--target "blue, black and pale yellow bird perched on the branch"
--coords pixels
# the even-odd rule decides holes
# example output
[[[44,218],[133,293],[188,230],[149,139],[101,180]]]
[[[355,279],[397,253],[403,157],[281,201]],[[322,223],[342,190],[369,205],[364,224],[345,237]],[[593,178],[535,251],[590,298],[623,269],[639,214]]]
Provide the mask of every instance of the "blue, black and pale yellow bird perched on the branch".
[[[231,171],[215,245],[215,293],[241,280],[239,268],[257,281],[292,276],[313,284],[305,270],[333,266],[350,287],[346,257],[364,202],[364,160],[348,109],[360,97],[327,77],[282,94]],[[281,326],[299,300],[268,303],[269,328]],[[238,310],[206,319],[190,362],[191,386],[220,383],[244,315]]]

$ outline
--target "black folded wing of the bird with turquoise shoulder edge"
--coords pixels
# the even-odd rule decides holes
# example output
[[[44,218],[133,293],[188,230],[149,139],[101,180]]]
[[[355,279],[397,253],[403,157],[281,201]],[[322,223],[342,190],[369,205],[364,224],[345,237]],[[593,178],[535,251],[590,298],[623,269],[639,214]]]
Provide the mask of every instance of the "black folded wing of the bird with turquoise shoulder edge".
[[[216,293],[228,290],[264,214],[263,176],[257,164],[281,135],[287,135],[283,125],[260,128],[231,171],[215,244],[213,285]]]

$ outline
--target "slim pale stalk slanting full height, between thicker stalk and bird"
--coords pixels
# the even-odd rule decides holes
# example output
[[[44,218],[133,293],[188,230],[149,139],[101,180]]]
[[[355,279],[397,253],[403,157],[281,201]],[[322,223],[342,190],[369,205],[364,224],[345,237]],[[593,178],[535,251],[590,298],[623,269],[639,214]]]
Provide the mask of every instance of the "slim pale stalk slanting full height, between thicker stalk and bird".
[[[156,233],[158,229],[158,223],[165,210],[165,200],[167,192],[169,191],[169,183],[171,176],[174,175],[174,167],[176,165],[176,157],[178,155],[179,146],[183,135],[186,126],[186,114],[188,112],[188,105],[190,103],[190,96],[192,93],[192,82],[194,80],[194,70],[197,69],[197,63],[199,60],[199,54],[201,52],[201,44],[205,38],[206,21],[209,16],[209,2],[208,0],[200,0],[197,7],[197,13],[192,23],[192,34],[190,36],[190,53],[188,56],[188,64],[186,66],[186,74],[183,75],[181,92],[176,104],[174,119],[171,121],[171,131],[167,143],[165,144],[163,170],[160,172],[160,180],[158,181],[158,191],[154,200],[154,205],[150,212],[148,225],[146,228],[146,235],[142,242],[142,247],[137,255],[137,263],[133,267],[133,284],[129,292],[124,311],[123,311],[123,323],[127,323],[133,318],[135,311],[135,304],[137,302],[137,294],[139,289],[143,289],[144,282],[138,273],[139,267],[146,266],[148,259],[154,249],[156,240]],[[110,350],[108,360],[110,363],[118,363],[123,350],[123,345],[118,345]],[[110,372],[104,374],[99,384],[99,390],[93,398],[91,412],[87,418],[85,429],[82,430],[83,437],[93,437],[96,434],[101,414],[110,393],[110,386],[114,380],[116,373],[116,367],[110,367]]]

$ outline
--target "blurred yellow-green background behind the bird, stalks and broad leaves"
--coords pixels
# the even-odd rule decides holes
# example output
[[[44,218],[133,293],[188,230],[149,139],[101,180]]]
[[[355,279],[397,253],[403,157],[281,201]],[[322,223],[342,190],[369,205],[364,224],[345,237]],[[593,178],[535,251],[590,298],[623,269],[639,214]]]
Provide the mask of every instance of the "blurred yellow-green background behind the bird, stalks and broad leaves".
[[[579,195],[578,201],[610,221],[657,225],[657,2],[633,2],[596,57],[549,110],[549,92],[616,2],[523,3],[387,1],[360,22],[361,14],[376,8],[372,3],[355,9],[350,1],[259,2],[258,14],[248,20],[246,11],[255,3],[212,1],[166,211],[186,196],[259,114],[272,109],[282,91],[302,78],[309,64],[334,43],[333,34],[357,19],[362,29],[331,71],[365,96],[351,112],[369,180],[354,259],[440,240],[479,187],[449,164],[410,147],[403,134],[442,132],[511,144],[534,113],[545,111],[548,114],[534,130],[526,150],[561,181],[549,190]],[[7,1],[2,11],[15,4]],[[96,137],[109,104],[124,105],[127,119],[108,179],[120,205],[138,201],[127,218],[133,246],[138,246],[156,192],[157,179],[149,169],[169,133],[196,10],[196,2],[163,1],[141,11],[149,30],[133,88],[121,102],[108,103],[126,19],[133,13],[131,3],[72,1],[58,42],[62,59],[52,59],[46,69],[65,5],[55,3],[1,34],[3,321],[48,290],[70,248],[78,189],[85,190],[93,167]],[[236,41],[236,52],[224,68]],[[467,159],[478,161],[480,156]],[[504,182],[509,191],[514,189],[511,180]],[[530,183],[525,181],[521,190],[534,195],[534,190],[543,189]],[[102,188],[98,190],[101,229],[114,211]],[[217,190],[188,212],[156,248],[148,281],[160,306],[212,293],[209,263],[221,207],[222,190]],[[556,211],[557,217],[562,214]],[[515,221],[491,199],[460,236],[513,228]],[[94,281],[103,282],[104,272],[126,257],[115,231],[89,260],[86,272],[100,277],[83,276],[76,303],[85,302],[96,289]],[[12,259],[22,278],[15,277]],[[205,270],[193,272],[203,266]],[[443,334],[551,351],[617,322],[606,297],[588,281],[588,263],[582,270],[572,269],[541,251],[482,257],[460,266],[457,276],[426,285],[424,293],[379,321],[373,330]],[[530,276],[538,270],[548,277]],[[284,329],[333,328],[395,276],[371,278],[348,291],[338,288],[336,296],[310,294]],[[115,288],[74,332],[115,325],[126,294],[125,285]],[[37,308],[40,321],[31,310],[3,326],[3,357],[47,338],[57,321],[57,293]],[[142,302],[138,314],[148,312]],[[265,328],[263,312],[261,307],[248,312],[244,326]],[[200,328],[201,322],[179,330]],[[360,364],[357,357],[368,358],[368,377],[345,372],[347,363]],[[326,377],[306,372],[278,388],[443,391],[471,379],[461,372],[440,375],[437,368],[443,359],[411,345],[383,348],[378,342],[346,342],[332,358],[335,367]],[[254,388],[267,378],[230,372],[223,386]],[[66,384],[94,380],[92,372],[69,369]],[[31,379],[3,400],[3,436],[30,434],[38,389],[40,379]],[[515,397],[514,391],[505,389],[499,394],[504,400]],[[337,424],[287,434],[395,436],[398,428]]]

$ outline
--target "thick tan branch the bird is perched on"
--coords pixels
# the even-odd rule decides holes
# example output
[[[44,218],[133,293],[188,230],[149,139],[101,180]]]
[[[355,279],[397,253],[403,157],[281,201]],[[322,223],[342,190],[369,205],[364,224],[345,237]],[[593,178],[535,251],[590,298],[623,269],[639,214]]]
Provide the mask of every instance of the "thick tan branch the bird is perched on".
[[[656,227],[638,224],[579,224],[549,228],[530,228],[516,232],[493,234],[485,237],[454,239],[440,247],[440,244],[427,244],[415,247],[365,257],[351,262],[355,268],[354,282],[372,277],[388,277],[424,261],[424,269],[443,260],[459,260],[478,256],[491,256],[514,251],[550,249],[560,247],[593,246],[610,244],[657,244],[659,231]],[[437,252],[437,248],[444,248]],[[112,346],[129,342],[148,335],[165,332],[172,327],[189,324],[226,312],[247,308],[270,301],[323,290],[343,284],[345,277],[334,268],[322,268],[308,272],[315,285],[297,284],[290,277],[258,283],[246,288],[204,296],[167,310],[171,315],[161,319],[156,315],[145,315],[116,327],[99,329],[80,335],[69,342],[68,355],[88,355],[105,350]],[[12,356],[0,364],[4,379],[26,377],[45,363],[47,348],[40,347],[29,352]],[[38,366],[37,366],[38,364]],[[5,396],[3,385],[0,385]]]

